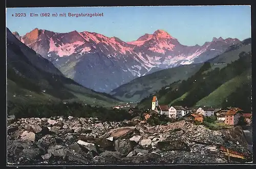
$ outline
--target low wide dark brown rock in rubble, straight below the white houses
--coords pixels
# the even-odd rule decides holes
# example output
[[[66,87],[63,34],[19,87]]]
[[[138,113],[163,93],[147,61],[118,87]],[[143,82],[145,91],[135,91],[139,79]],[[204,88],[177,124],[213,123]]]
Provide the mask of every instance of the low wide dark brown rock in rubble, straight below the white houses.
[[[160,150],[170,151],[170,150],[188,150],[186,143],[181,140],[166,140],[157,143],[157,148]]]

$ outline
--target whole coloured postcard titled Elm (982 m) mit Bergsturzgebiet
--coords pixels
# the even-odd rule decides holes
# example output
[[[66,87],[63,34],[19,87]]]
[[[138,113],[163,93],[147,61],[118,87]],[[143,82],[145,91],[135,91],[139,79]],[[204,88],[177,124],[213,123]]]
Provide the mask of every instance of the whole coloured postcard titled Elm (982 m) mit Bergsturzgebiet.
[[[7,164],[250,163],[250,16],[7,8]]]

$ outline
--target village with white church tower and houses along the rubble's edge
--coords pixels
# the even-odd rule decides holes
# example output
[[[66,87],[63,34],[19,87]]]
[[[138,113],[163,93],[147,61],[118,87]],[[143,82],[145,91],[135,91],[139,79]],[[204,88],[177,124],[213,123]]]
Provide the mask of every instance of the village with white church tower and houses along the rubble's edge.
[[[122,109],[130,107],[128,112],[133,114],[134,112],[143,112],[145,120],[150,118],[153,114],[166,115],[171,120],[177,120],[183,118],[186,121],[198,121],[203,122],[205,117],[216,117],[217,121],[228,126],[235,126],[239,123],[241,117],[244,118],[247,126],[252,123],[252,114],[244,112],[239,107],[208,107],[208,106],[195,106],[195,107],[183,107],[180,105],[159,105],[157,96],[153,96],[151,109],[140,110],[135,105],[126,103],[124,105],[114,106],[113,108]]]

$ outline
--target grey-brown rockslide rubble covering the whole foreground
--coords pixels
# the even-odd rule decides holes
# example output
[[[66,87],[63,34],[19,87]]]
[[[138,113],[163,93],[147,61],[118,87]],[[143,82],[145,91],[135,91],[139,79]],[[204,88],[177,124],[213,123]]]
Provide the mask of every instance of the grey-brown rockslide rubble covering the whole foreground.
[[[239,127],[212,131],[186,121],[150,126],[140,120],[10,118],[8,163],[238,163],[227,160],[219,146],[250,154],[241,131]]]

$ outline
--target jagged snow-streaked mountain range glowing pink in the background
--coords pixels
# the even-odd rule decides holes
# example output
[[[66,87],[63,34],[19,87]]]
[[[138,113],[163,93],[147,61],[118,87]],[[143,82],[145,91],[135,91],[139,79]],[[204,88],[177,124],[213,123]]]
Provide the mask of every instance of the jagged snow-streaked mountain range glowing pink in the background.
[[[241,43],[236,38],[220,37],[202,46],[185,46],[163,30],[133,42],[87,31],[55,33],[34,29],[24,36],[17,32],[13,35],[52,62],[66,77],[105,93],[159,70],[204,63]]]

